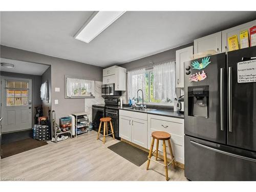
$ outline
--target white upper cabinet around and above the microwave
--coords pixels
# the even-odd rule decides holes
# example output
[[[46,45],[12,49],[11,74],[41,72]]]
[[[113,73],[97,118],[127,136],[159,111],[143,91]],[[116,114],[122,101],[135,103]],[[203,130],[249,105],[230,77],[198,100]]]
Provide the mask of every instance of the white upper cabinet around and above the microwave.
[[[126,69],[118,66],[103,69],[102,83],[115,83],[115,91],[126,91]]]

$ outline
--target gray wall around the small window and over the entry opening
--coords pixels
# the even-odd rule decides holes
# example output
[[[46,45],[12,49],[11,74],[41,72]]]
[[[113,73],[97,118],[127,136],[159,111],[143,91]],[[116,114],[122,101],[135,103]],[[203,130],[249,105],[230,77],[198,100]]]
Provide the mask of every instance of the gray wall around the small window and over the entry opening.
[[[74,112],[84,111],[85,99],[65,99],[64,75],[76,75],[102,81],[103,68],[81,62],[42,55],[2,45],[1,57],[51,65],[51,100],[52,110],[56,111],[56,118],[67,116]],[[55,92],[55,87],[60,88],[60,92]],[[55,99],[58,99],[59,104],[54,104]]]

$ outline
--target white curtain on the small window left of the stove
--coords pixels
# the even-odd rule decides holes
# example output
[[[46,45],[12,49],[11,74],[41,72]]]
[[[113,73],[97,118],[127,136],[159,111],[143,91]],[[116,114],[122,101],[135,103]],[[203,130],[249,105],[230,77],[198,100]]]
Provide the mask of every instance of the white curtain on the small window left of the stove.
[[[68,97],[75,96],[74,90],[76,89],[79,90],[81,88],[85,88],[88,94],[91,93],[92,95],[94,95],[95,85],[93,80],[67,78],[67,96]],[[78,96],[81,96],[81,95],[78,95]]]

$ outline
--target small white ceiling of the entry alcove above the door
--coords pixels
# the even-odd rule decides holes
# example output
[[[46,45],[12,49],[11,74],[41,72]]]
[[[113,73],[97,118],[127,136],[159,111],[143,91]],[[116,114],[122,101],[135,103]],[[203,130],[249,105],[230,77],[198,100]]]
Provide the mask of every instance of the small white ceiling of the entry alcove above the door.
[[[24,62],[24,61],[18,61],[18,60],[12,60],[12,59],[6,59],[6,58],[0,58],[1,63],[11,63],[14,65],[14,68],[5,68],[1,66],[0,71],[5,72],[12,72],[12,73],[22,73],[22,74],[30,74],[30,75],[42,75],[49,66],[47,65],[41,65],[38,63],[32,63],[32,62]]]

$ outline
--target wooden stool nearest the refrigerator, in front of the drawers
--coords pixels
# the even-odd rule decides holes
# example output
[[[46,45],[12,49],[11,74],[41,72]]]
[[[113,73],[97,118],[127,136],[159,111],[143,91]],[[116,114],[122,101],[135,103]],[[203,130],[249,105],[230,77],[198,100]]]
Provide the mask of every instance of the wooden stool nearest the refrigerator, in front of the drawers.
[[[159,164],[164,166],[164,168],[165,168],[165,179],[166,179],[166,181],[168,181],[168,166],[173,162],[173,165],[174,165],[174,168],[175,168],[175,160],[174,160],[172,145],[170,144],[170,134],[168,134],[166,132],[156,131],[156,132],[152,132],[152,137],[153,138],[152,138],[151,147],[150,147],[150,154],[147,157],[148,160],[147,160],[146,170],[148,170],[148,167],[150,166],[150,161],[151,160],[156,162],[156,163],[159,163]],[[153,152],[155,139],[157,140],[157,146],[156,146],[156,151]],[[159,158],[158,157],[159,140],[163,141],[163,159],[162,160],[164,161],[164,164],[157,161],[157,158]],[[171,160],[168,164],[167,164],[166,145],[165,145],[166,140],[167,140],[168,145],[169,145],[169,152],[170,152],[170,156],[171,156]],[[156,160],[153,160],[153,159],[151,159],[151,157],[155,152],[156,152]]]

